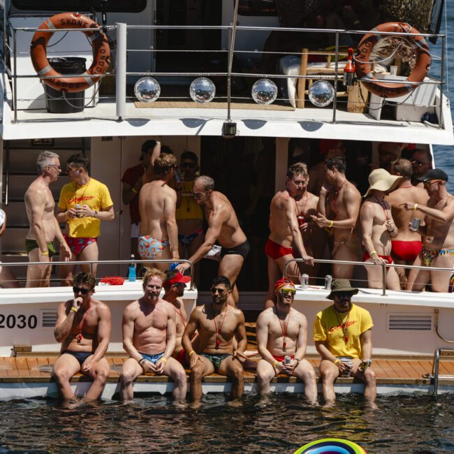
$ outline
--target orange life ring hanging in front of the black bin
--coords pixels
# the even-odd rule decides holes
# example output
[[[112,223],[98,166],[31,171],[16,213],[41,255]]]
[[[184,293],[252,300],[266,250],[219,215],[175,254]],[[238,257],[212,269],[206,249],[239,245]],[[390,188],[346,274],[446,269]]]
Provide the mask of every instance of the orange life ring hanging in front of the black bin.
[[[107,71],[110,62],[110,47],[108,38],[98,29],[99,25],[89,17],[78,13],[61,13],[49,17],[40,26],[41,30],[58,30],[58,29],[80,29],[82,33],[87,35],[93,47],[93,63],[89,69],[78,76],[77,78],[64,77],[50,66],[47,60],[47,43],[54,32],[51,31],[36,31],[30,45],[30,56],[36,73],[39,76],[52,76],[52,78],[42,79],[46,85],[61,91],[69,91],[75,93],[84,91],[96,84],[101,78],[101,75]],[[98,78],[89,77],[90,75],[99,75]]]

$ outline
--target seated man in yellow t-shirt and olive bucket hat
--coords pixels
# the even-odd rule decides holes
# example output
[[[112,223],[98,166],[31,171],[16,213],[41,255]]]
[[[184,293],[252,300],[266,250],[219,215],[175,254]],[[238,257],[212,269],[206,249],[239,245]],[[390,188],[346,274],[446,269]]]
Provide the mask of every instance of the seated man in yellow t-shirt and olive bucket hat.
[[[351,302],[358,293],[348,279],[332,282],[329,300],[334,305],[318,312],[314,321],[315,346],[321,354],[320,374],[327,405],[335,402],[334,382],[338,376],[356,376],[364,381],[364,397],[371,407],[376,397],[375,372],[368,367],[372,360],[372,317]]]

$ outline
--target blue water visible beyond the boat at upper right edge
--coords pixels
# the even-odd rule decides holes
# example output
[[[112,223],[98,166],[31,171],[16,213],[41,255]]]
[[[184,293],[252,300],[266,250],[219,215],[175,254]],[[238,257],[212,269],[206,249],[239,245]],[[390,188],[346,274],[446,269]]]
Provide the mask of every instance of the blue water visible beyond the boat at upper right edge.
[[[448,95],[451,101],[451,115],[454,116],[454,58],[451,53],[451,59],[449,59],[449,51],[451,46],[454,45],[454,2],[452,0],[446,1],[448,13],[447,13],[447,47],[448,47],[448,59],[446,60],[446,71],[445,71],[445,80],[448,78],[448,89],[445,90],[445,94]],[[445,24],[444,20],[441,24],[440,33],[445,33]],[[432,52],[435,52],[437,55],[441,55],[441,40],[437,43],[436,46],[431,47]],[[440,62],[433,61],[432,63],[432,74],[439,74],[440,71]],[[454,193],[454,156],[453,156],[453,147],[447,145],[434,145],[434,159],[435,165],[439,168],[442,168],[449,176],[448,181],[448,191]]]

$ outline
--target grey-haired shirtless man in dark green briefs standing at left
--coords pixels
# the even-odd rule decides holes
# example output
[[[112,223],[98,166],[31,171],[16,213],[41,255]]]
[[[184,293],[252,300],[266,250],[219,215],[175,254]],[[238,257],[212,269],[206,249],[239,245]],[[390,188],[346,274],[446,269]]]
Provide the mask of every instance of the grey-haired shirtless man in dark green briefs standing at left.
[[[52,256],[55,254],[54,238],[61,244],[62,260],[68,261],[71,251],[64,240],[59,223],[54,215],[54,196],[50,184],[56,182],[61,173],[59,155],[41,152],[36,161],[39,177],[30,184],[24,196],[30,230],[25,237],[25,249],[30,262],[43,265],[30,265],[27,268],[27,287],[48,287],[52,269]],[[6,268],[8,270],[8,268]]]

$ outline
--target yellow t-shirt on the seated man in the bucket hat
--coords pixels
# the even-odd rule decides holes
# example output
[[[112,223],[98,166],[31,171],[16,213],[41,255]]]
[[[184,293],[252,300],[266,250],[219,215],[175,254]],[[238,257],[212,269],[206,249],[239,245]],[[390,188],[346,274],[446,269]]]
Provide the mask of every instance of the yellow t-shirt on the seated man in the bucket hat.
[[[341,323],[346,323],[347,342]],[[334,356],[363,358],[361,335],[374,326],[369,312],[362,307],[351,305],[347,313],[337,312],[334,305],[327,307],[315,317],[314,341],[328,341],[325,346]]]

